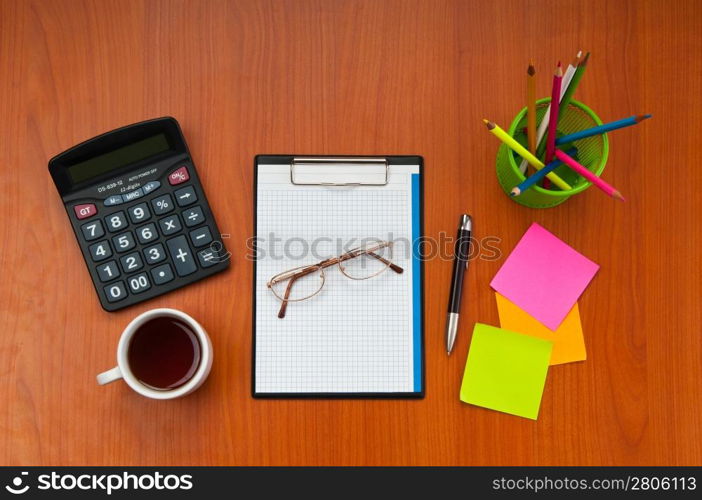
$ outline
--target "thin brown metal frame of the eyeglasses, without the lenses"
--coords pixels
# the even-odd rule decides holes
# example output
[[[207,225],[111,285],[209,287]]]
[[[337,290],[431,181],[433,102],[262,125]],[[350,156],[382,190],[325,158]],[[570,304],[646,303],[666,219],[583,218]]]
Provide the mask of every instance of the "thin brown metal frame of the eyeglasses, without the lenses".
[[[343,253],[337,257],[331,257],[329,259],[325,259],[317,264],[311,264],[307,266],[300,266],[300,267],[295,267],[293,269],[288,269],[287,271],[283,271],[282,273],[278,273],[275,276],[273,276],[270,280],[268,280],[268,283],[266,283],[266,286],[268,289],[273,293],[273,295],[281,301],[280,305],[280,310],[278,311],[278,318],[282,319],[285,317],[285,311],[287,310],[288,304],[290,302],[302,302],[303,300],[311,299],[315,295],[317,295],[319,292],[322,291],[322,288],[324,288],[324,283],[326,282],[326,276],[324,275],[324,269],[331,267],[331,266],[339,266],[339,271],[341,271],[341,274],[346,276],[349,279],[356,280],[356,281],[361,281],[361,280],[367,280],[370,278],[374,278],[378,276],[379,274],[385,272],[387,269],[392,269],[395,271],[397,274],[402,274],[404,272],[404,269],[398,266],[397,264],[394,264],[392,261],[381,257],[380,255],[377,255],[375,252],[378,250],[382,250],[383,248],[389,248],[391,255],[392,255],[392,241],[380,241],[374,246],[370,247],[358,247],[354,248],[352,250],[349,250],[346,253]],[[351,276],[350,274],[347,274],[344,271],[344,268],[341,266],[342,262],[346,262],[347,260],[354,259],[356,257],[361,257],[363,255],[369,255],[371,257],[374,257],[378,259],[379,261],[383,262],[385,264],[385,267],[381,269],[380,271],[371,274],[370,276],[365,276],[363,278],[357,278],[354,276]],[[290,295],[290,290],[292,289],[292,285],[295,283],[300,278],[303,278],[307,276],[308,274],[312,274],[316,271],[320,272],[320,275],[322,277],[322,284],[319,286],[319,289],[314,292],[311,295],[308,295],[307,297],[303,297],[301,299],[291,299],[289,298]],[[285,297],[281,297],[278,295],[273,288],[273,285],[277,283],[281,283],[283,281],[289,280],[288,285],[285,288]]]

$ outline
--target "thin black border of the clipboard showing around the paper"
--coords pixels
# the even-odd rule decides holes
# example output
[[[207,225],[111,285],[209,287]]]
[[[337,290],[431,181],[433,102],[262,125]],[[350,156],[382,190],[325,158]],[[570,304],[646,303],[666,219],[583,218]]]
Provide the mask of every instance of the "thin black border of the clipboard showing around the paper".
[[[253,234],[258,235],[256,206],[258,202],[258,166],[289,165],[295,157],[306,158],[386,158],[388,165],[419,165],[419,236],[412,234],[415,240],[413,246],[424,238],[424,158],[419,155],[268,155],[254,157],[253,179]],[[413,231],[414,233],[414,231]],[[425,360],[425,308],[424,308],[424,259],[419,259],[421,287],[421,389],[412,392],[256,392],[256,256],[253,259],[252,302],[251,302],[251,396],[256,399],[424,399],[426,393],[426,360]],[[415,365],[416,366],[416,365]]]

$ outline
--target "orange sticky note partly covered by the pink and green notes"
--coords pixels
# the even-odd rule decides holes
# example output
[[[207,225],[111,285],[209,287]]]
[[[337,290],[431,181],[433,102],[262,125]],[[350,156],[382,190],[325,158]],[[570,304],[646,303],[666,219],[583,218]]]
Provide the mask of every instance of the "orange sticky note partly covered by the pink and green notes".
[[[553,342],[549,364],[560,365],[586,359],[585,339],[577,303],[568,312],[558,329],[553,331],[497,292],[495,292],[495,299],[497,299],[497,312],[500,315],[502,328]]]

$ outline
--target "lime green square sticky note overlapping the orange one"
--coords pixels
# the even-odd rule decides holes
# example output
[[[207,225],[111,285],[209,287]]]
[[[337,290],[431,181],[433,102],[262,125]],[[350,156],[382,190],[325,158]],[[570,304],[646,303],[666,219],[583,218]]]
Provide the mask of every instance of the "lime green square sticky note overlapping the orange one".
[[[476,323],[461,401],[536,420],[553,343]]]

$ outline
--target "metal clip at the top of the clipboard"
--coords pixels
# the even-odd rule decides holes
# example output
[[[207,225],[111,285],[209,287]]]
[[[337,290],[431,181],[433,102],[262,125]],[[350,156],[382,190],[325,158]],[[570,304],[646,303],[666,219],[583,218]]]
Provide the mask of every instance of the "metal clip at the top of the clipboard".
[[[386,186],[386,158],[293,158],[290,182],[296,186]]]

